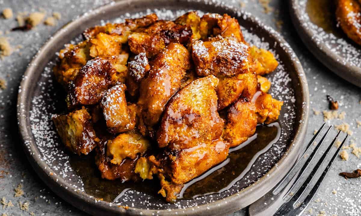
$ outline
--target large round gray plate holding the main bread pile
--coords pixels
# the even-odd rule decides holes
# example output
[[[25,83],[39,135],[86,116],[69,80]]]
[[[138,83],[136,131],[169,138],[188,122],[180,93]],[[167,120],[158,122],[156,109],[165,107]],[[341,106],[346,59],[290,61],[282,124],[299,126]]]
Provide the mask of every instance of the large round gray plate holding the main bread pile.
[[[162,10],[163,8],[167,10]],[[183,11],[179,12],[181,9]],[[90,159],[74,160],[73,156],[63,151],[50,120],[52,113],[64,111],[64,95],[53,81],[51,72],[56,61],[55,53],[69,41],[79,40],[79,34],[84,29],[100,24],[100,20],[127,18],[151,11],[169,19],[181,15],[177,14],[177,11],[184,13],[190,9],[227,13],[237,17],[243,26],[245,39],[250,44],[271,49],[277,55],[280,65],[268,78],[273,84],[270,93],[284,101],[279,118],[279,125],[282,128],[280,139],[254,157],[253,165],[244,171],[243,177],[229,190],[195,199],[182,199],[175,204],[165,203],[164,199],[156,194],[132,191],[127,192],[118,203],[130,207],[121,208],[109,202],[114,199],[114,194],[119,193],[117,191],[121,187],[119,181],[111,182],[112,191],[104,193],[101,186],[105,180],[82,175],[87,168],[74,165],[79,160],[82,162]],[[25,72],[18,95],[19,129],[29,162],[57,195],[92,215],[224,215],[240,210],[273,188],[286,174],[289,165],[295,162],[303,145],[308,111],[309,93],[305,74],[287,42],[277,32],[264,26],[250,14],[239,12],[223,4],[201,0],[151,2],[126,0],[84,14],[64,26],[39,50]],[[220,169],[219,172],[221,171]],[[94,175],[97,176],[95,172]],[[217,176],[214,179],[217,179]],[[146,184],[148,182],[144,181],[144,185]],[[97,188],[97,190],[93,191],[89,188]],[[99,200],[95,197],[104,199]]]

